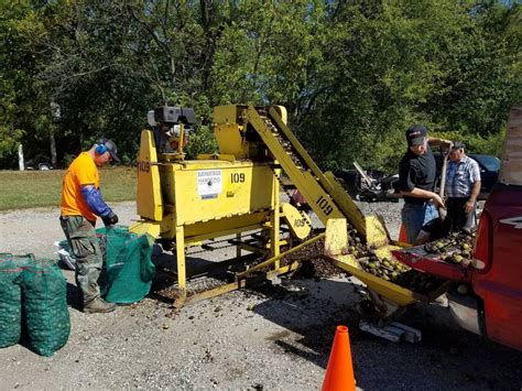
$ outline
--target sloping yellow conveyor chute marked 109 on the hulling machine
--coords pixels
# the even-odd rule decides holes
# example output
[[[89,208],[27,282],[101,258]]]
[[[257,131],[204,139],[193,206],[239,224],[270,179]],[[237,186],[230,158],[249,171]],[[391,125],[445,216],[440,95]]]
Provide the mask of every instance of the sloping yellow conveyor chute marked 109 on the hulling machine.
[[[248,108],[248,121],[260,134],[274,159],[281,164],[319,219],[327,226],[325,256],[337,267],[357,276],[370,290],[394,305],[405,306],[416,301],[426,302],[428,298],[425,296],[365,272],[352,256],[342,254],[342,250],[348,246],[347,220],[363,235],[369,246],[377,248],[374,252],[380,259],[392,259],[391,250],[398,249],[398,247],[389,245],[389,232],[377,216],[365,217],[334,175],[329,172],[322,173],[274,108],[269,109],[269,116],[272,123],[291,142],[293,152],[309,171],[300,170],[281,145],[271,127],[265,124],[258,110],[253,106]]]

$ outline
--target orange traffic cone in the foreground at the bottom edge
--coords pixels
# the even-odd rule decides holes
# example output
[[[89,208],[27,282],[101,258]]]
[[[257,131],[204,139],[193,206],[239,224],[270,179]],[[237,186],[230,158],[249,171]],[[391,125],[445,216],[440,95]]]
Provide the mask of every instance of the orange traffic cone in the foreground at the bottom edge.
[[[323,391],[351,391],[356,389],[354,366],[351,363],[350,337],[348,327],[337,326],[330,358],[326,367]]]

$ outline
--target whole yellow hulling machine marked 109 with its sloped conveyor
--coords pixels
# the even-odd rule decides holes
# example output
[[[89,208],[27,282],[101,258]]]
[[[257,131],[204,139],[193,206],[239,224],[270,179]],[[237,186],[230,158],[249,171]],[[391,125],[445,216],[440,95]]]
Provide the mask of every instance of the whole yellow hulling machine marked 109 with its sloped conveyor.
[[[162,107],[150,112],[153,130],[143,130],[138,163],[138,214],[131,230],[171,243],[177,262],[178,298],[187,304],[241,286],[254,274],[264,278],[295,270],[297,262],[280,260],[325,239],[325,257],[368,285],[371,301],[383,316],[431,297],[367,273],[356,254],[347,253],[348,226],[380,259],[391,259],[392,242],[377,216],[365,216],[329,172],[323,173],[286,124],[281,106],[219,106],[214,109],[214,133],[219,153],[185,160],[183,146],[194,123],[194,111]],[[282,181],[284,173],[287,181]],[[289,185],[306,199],[326,232],[309,237],[309,217],[300,205],[280,203]],[[348,226],[347,226],[348,224]],[[284,228],[284,229],[283,229]],[[242,235],[260,230],[257,242]],[[282,230],[287,231],[285,238]],[[260,263],[238,271],[233,281],[187,295],[185,249],[208,239],[232,237],[241,250],[265,254]],[[261,241],[261,242],[260,242]],[[284,246],[284,251],[282,251]],[[259,257],[258,257],[259,258]]]

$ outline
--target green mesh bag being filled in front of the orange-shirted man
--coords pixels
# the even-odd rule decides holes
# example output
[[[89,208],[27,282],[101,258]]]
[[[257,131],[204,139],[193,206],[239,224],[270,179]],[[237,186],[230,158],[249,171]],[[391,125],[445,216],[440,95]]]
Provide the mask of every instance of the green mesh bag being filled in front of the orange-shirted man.
[[[151,261],[154,239],[149,235],[138,236],[127,227],[99,228],[105,247],[107,283],[101,293],[111,303],[135,303],[151,290],[155,267]]]

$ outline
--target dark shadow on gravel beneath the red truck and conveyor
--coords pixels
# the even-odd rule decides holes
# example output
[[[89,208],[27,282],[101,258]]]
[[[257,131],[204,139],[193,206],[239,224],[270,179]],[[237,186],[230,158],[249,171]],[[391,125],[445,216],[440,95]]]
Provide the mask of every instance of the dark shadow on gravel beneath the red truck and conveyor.
[[[416,304],[402,323],[418,328],[418,344],[390,343],[358,329],[359,300],[346,281],[297,280],[259,290],[253,309],[286,330],[268,339],[279,354],[326,369],[337,325],[349,328],[357,385],[367,390],[520,390],[522,352],[456,326],[445,307]],[[320,384],[318,384],[319,387]]]

